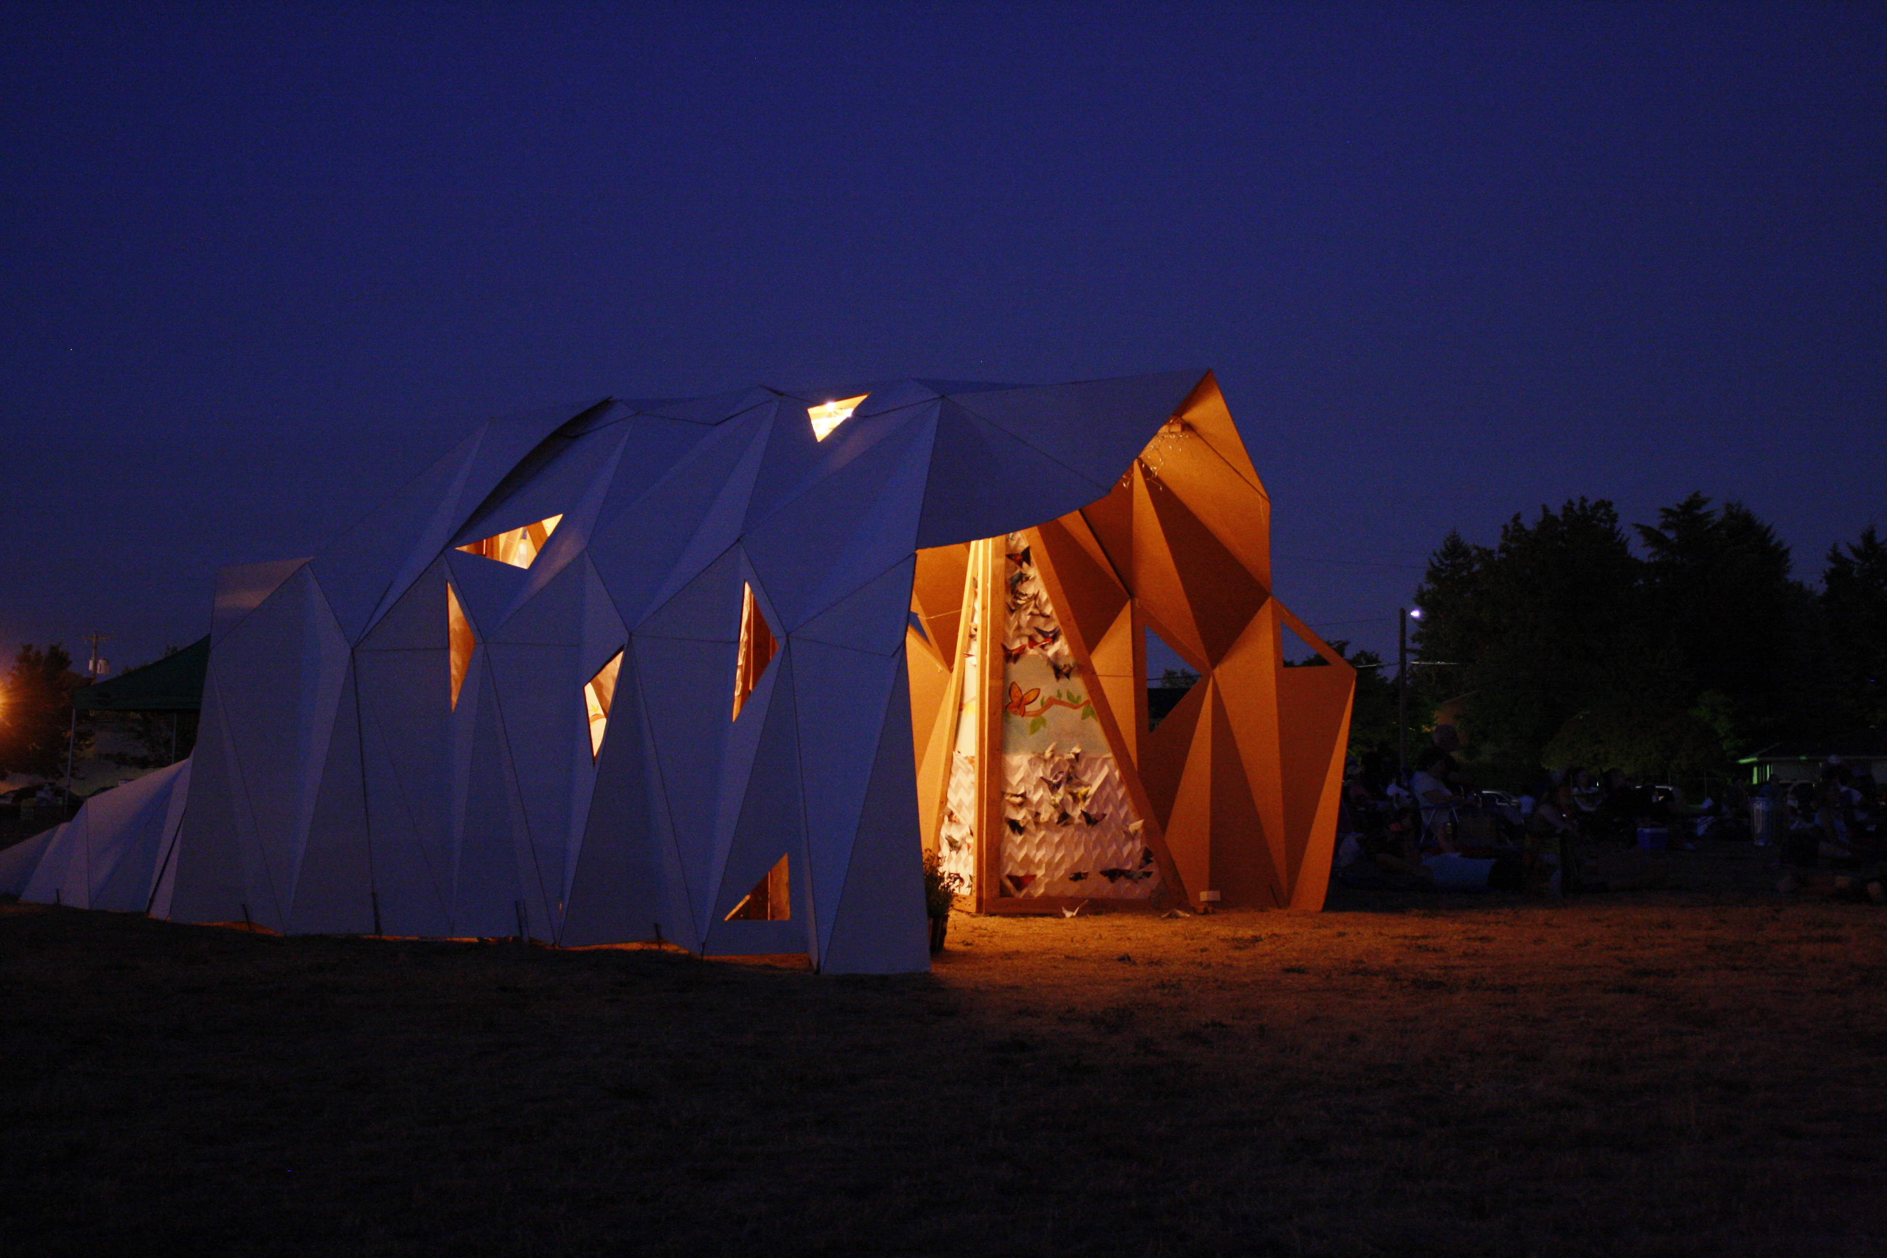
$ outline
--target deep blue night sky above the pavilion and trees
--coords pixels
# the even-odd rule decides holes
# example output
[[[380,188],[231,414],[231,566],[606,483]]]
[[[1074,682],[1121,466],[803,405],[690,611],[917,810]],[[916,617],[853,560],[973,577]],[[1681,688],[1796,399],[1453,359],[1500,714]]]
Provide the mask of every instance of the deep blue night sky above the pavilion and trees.
[[[751,383],[1211,366],[1279,596],[1391,651],[1542,502],[1887,524],[1887,8],[9,8],[0,660]]]

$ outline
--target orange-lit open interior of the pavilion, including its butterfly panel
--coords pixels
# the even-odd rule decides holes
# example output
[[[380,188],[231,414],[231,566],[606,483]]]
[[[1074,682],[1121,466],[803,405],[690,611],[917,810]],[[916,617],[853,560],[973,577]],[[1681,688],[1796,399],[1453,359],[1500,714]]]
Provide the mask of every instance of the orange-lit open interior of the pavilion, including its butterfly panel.
[[[1211,377],[1104,498],[919,551],[911,613],[925,849],[977,911],[1323,905],[1355,670],[1272,596]],[[1328,668],[1283,668],[1285,632]],[[1200,675],[1157,728],[1147,634]]]

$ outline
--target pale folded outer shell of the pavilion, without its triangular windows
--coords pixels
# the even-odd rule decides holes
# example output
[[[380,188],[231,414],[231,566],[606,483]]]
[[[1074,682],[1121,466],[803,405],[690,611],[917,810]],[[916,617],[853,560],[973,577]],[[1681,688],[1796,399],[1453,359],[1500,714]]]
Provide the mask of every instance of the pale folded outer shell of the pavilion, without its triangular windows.
[[[313,560],[226,575],[187,809],[111,826],[170,826],[177,920],[923,969],[915,551],[1104,494],[1198,383],[904,381],[825,441],[823,398],[772,390],[493,421]],[[528,570],[455,549],[553,515]],[[447,583],[476,637],[457,703]],[[749,587],[779,651],[734,719]],[[593,756],[583,685],[615,653]],[[159,890],[143,856],[123,886],[62,873],[106,811],[34,888]],[[726,920],[781,856],[791,919]]]

